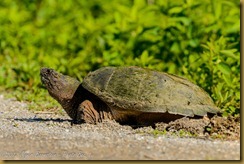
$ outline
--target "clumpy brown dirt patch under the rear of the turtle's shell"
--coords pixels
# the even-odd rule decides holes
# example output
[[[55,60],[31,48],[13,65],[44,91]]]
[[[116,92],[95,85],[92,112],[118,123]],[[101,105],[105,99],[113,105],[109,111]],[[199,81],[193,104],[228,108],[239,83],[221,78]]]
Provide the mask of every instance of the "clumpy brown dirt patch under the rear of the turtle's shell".
[[[158,123],[156,129],[177,135],[190,135],[196,138],[240,139],[240,117],[220,117],[204,119],[181,118],[168,124]]]

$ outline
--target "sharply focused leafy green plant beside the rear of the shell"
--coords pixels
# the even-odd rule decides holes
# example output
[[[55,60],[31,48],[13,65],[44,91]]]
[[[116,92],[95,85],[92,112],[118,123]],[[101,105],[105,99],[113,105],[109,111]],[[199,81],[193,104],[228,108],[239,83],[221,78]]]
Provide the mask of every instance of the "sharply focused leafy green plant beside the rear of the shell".
[[[192,73],[188,76],[201,85],[215,100],[216,104],[225,109],[225,115],[238,114],[240,111],[240,53],[238,49],[228,46],[227,40],[220,37],[218,40],[211,39],[203,44],[202,57],[192,55],[187,67],[186,74],[194,70],[199,77]],[[190,64],[194,63],[194,64]]]

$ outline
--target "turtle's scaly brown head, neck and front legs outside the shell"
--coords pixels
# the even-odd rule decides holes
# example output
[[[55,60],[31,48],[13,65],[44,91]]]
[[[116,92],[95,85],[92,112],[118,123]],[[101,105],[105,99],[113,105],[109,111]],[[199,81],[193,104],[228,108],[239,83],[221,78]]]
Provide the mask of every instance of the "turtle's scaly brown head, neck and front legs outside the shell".
[[[62,105],[73,123],[96,124],[105,118],[113,119],[108,106],[75,78],[49,68],[42,68],[40,75],[49,94]]]

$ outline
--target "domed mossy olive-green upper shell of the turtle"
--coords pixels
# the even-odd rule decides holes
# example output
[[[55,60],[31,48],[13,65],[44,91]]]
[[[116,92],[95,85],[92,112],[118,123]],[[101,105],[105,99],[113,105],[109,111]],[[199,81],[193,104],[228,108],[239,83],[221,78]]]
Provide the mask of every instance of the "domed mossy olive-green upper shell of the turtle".
[[[218,113],[210,96],[192,82],[140,67],[103,67],[90,72],[83,87],[111,108],[183,116]]]

